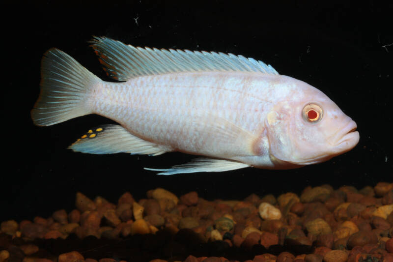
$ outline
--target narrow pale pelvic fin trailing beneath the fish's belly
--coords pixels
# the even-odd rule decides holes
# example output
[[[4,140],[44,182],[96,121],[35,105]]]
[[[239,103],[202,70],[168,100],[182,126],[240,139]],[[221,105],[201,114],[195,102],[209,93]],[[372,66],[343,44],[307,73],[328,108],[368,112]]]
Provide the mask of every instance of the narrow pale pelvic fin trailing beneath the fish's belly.
[[[212,159],[212,158],[195,158],[191,162],[173,166],[168,169],[153,169],[153,168],[144,168],[145,170],[151,171],[161,171],[157,175],[174,175],[174,174],[182,174],[182,173],[196,173],[196,172],[223,172],[241,168],[247,168],[249,165],[229,161],[224,159]]]

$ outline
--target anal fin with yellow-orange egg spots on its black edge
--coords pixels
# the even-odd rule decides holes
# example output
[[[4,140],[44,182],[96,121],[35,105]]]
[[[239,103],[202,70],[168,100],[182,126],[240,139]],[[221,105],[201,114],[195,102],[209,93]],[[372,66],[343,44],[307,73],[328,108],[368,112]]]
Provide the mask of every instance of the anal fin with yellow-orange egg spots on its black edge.
[[[148,154],[166,152],[163,146],[140,139],[120,125],[104,125],[87,131],[68,148],[90,154]]]

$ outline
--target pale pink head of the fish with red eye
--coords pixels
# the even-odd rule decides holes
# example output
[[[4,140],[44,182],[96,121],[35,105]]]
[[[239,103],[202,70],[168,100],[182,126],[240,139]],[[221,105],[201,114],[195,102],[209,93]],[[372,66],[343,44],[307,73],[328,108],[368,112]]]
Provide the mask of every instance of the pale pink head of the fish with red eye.
[[[327,161],[359,142],[351,117],[320,90],[300,85],[301,91],[276,104],[266,119],[270,155],[289,168]]]

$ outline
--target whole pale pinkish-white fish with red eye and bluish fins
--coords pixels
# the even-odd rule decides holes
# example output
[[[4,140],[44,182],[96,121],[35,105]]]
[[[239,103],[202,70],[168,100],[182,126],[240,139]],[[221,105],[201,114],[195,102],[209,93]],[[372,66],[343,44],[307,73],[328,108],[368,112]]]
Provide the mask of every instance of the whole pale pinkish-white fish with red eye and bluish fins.
[[[52,48],[41,62],[33,123],[97,114],[118,124],[88,130],[69,146],[90,154],[199,157],[173,175],[321,163],[359,142],[357,125],[327,95],[241,55],[141,48],[104,36],[91,47],[113,82]]]

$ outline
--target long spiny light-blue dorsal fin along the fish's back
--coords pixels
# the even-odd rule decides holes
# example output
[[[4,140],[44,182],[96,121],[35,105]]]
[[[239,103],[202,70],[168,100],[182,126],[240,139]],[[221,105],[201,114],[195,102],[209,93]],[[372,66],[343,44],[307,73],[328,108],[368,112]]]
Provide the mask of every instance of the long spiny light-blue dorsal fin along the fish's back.
[[[262,61],[233,54],[189,50],[150,49],[125,45],[106,37],[91,41],[104,70],[119,81],[146,75],[193,71],[246,71],[265,74],[279,73]]]

